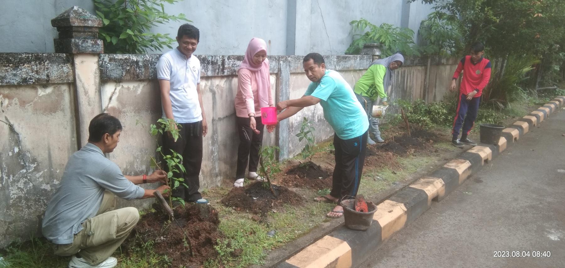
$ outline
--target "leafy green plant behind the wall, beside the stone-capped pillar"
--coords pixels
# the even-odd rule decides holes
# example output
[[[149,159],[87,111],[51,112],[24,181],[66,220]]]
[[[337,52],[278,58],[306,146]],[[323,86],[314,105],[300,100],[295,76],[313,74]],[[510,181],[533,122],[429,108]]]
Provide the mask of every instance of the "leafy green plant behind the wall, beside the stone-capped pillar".
[[[94,0],[96,14],[102,20],[99,38],[106,53],[143,54],[159,51],[165,46],[172,49],[175,39],[169,34],[151,33],[151,27],[169,21],[189,21],[184,14],[168,15],[164,3],[181,0]]]

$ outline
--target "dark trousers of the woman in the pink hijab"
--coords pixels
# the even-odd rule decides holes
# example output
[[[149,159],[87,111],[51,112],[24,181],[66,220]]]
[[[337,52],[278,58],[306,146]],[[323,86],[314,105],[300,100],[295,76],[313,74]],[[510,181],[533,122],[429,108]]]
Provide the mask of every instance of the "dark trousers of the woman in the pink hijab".
[[[236,179],[245,178],[245,168],[247,168],[247,159],[249,159],[249,172],[257,172],[259,163],[259,150],[263,143],[263,124],[261,117],[255,117],[257,122],[257,130],[259,134],[249,127],[249,117],[236,117],[237,133],[240,136],[240,146],[237,148],[237,170]]]

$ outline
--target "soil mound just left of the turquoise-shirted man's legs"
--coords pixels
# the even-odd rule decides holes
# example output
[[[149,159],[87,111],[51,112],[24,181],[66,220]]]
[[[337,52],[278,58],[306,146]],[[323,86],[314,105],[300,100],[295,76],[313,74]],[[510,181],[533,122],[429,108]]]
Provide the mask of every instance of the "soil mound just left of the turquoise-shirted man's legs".
[[[308,161],[298,164],[280,176],[279,183],[289,187],[308,187],[316,190],[332,187],[332,172]]]

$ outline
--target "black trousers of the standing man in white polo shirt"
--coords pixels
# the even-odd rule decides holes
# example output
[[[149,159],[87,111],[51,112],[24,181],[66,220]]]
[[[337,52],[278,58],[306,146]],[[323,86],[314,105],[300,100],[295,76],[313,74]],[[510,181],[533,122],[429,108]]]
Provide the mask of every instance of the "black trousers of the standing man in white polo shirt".
[[[181,128],[179,128],[180,137],[176,142],[168,133],[163,135],[163,153],[168,155],[171,150],[174,150],[182,155],[182,165],[184,165],[186,172],[180,171],[180,173],[173,174],[173,177],[184,178],[184,183],[188,185],[188,188],[180,184],[172,191],[172,195],[187,202],[194,202],[202,198],[202,195],[198,192],[198,188],[200,188],[198,175],[202,166],[202,121],[180,123],[179,125],[181,125]],[[167,169],[166,164],[164,168]],[[166,171],[168,172],[168,170]]]

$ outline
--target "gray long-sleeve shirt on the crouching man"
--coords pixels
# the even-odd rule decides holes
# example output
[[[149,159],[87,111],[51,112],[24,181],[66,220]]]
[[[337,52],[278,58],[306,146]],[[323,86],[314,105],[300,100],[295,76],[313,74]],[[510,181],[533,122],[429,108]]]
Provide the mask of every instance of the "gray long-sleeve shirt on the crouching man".
[[[54,244],[71,244],[82,222],[96,216],[105,190],[127,200],[145,194],[98,146],[87,143],[69,157],[63,179],[47,205],[41,228],[45,238]]]

